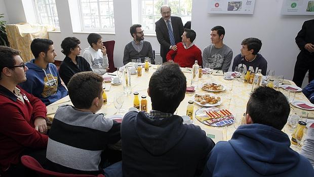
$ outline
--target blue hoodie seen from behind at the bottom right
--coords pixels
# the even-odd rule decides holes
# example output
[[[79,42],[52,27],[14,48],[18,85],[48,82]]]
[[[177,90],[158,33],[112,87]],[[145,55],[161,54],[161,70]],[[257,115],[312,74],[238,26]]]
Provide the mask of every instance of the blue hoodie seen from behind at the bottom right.
[[[310,162],[290,148],[288,135],[262,124],[240,126],[210,152],[203,176],[314,176]]]

